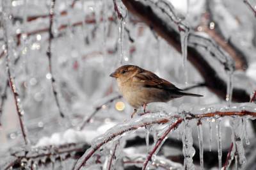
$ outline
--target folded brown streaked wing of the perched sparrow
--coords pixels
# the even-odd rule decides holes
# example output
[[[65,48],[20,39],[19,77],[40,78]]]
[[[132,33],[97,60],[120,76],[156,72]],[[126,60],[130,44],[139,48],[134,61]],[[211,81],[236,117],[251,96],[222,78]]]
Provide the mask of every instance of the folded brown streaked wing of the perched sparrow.
[[[177,88],[172,83],[161,79],[155,73],[146,71],[136,74],[133,79],[133,82],[141,83],[141,86],[146,88],[159,88],[159,89],[170,89],[170,90],[177,90],[182,91],[182,89]]]

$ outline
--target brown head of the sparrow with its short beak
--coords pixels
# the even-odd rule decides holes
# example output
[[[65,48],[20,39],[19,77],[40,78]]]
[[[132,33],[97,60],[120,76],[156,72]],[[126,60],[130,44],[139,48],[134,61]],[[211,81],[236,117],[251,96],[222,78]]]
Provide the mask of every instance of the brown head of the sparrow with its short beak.
[[[110,77],[115,77],[116,79],[129,79],[134,76],[136,73],[141,72],[142,68],[134,65],[124,65],[120,66],[115,70],[115,72],[111,73]]]

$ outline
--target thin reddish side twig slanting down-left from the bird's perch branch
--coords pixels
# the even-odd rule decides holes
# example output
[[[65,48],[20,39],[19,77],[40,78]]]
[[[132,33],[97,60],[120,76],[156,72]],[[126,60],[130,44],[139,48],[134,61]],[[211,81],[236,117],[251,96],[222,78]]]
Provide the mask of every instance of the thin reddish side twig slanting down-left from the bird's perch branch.
[[[147,167],[147,164],[149,161],[151,161],[152,156],[154,155],[154,153],[158,150],[159,146],[161,146],[161,144],[163,143],[165,137],[171,132],[171,130],[173,130],[174,128],[177,128],[180,123],[183,121],[182,118],[179,118],[179,120],[177,120],[175,123],[173,123],[165,132],[164,134],[157,140],[157,143],[155,144],[154,148],[152,151],[150,151],[150,153],[148,154],[148,157],[146,158],[145,162],[143,163],[143,167],[142,169],[145,170]]]

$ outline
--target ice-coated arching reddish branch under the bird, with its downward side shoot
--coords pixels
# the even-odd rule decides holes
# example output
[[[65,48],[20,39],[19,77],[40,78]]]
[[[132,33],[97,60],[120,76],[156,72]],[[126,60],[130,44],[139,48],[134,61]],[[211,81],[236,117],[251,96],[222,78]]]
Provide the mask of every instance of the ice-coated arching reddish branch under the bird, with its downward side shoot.
[[[254,106],[254,107],[253,107]],[[173,118],[178,118],[175,123],[171,123],[170,128],[164,132],[164,134],[158,139],[157,143],[155,144],[155,147],[153,150],[149,153],[147,160],[145,162],[145,165],[147,166],[148,161],[152,157],[152,155],[159,149],[159,146],[162,144],[163,139],[168,135],[168,133],[173,129],[178,127],[178,125],[183,120],[202,120],[203,118],[221,118],[223,116],[246,116],[249,118],[255,118],[256,116],[256,108],[255,105],[235,105],[230,108],[225,107],[226,111],[223,111],[223,107],[217,107],[218,109],[214,112],[205,111],[200,109],[195,111],[189,112],[189,114],[185,114],[186,116],[184,118],[180,117],[180,114],[177,114],[176,116],[170,116],[166,114],[160,114],[160,113],[151,113],[146,114],[144,116],[141,116],[140,118],[137,118],[136,120],[130,120],[125,123],[120,123],[116,125],[113,128],[110,128],[104,135],[99,136],[97,139],[95,139],[92,142],[92,147],[84,153],[83,157],[79,158],[77,161],[76,167],[74,169],[81,169],[86,162],[105,144],[109,143],[110,141],[115,141],[116,139],[119,139],[123,134],[127,134],[128,132],[131,132],[133,130],[136,130],[140,127],[145,127],[145,125],[154,125],[154,124],[161,124],[161,123],[168,123],[172,121]],[[196,112],[202,112],[202,114],[196,114]],[[181,113],[182,115],[184,114]],[[144,166],[144,167],[146,167]]]

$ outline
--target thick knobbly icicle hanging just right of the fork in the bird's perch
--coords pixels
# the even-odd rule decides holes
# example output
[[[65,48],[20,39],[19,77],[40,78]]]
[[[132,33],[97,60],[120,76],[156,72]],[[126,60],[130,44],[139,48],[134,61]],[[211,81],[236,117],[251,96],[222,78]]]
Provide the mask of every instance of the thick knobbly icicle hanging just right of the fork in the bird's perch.
[[[193,156],[195,149],[193,148],[192,130],[189,126],[188,120],[182,123],[184,131],[182,133],[183,155],[184,155],[184,169],[195,169],[193,164]]]

